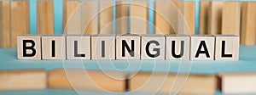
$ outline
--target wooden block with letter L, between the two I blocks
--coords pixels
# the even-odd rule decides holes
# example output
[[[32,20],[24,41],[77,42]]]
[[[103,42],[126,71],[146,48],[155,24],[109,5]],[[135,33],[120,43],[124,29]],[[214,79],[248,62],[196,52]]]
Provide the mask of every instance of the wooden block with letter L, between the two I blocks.
[[[67,59],[90,59],[90,35],[67,35]]]

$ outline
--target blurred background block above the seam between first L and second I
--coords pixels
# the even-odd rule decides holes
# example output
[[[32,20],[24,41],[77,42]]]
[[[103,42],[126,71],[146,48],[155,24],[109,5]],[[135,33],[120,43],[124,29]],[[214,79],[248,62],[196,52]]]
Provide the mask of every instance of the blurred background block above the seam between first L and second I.
[[[84,0],[81,3],[81,21],[84,34],[98,34],[98,3],[96,0]]]

